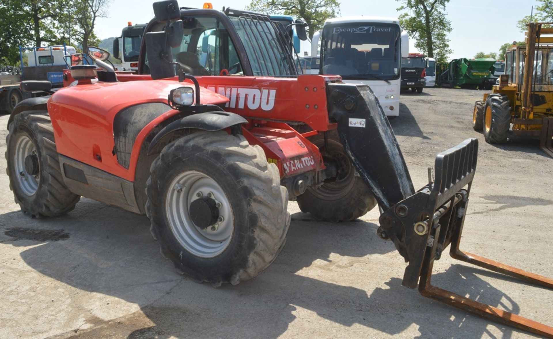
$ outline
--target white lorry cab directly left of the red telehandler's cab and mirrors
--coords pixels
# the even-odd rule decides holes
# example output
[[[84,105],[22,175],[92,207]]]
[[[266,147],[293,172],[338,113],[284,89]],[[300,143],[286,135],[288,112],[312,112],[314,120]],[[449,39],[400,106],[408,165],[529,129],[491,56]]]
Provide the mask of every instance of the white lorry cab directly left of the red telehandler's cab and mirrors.
[[[138,69],[138,52],[145,28],[146,24],[133,25],[129,21],[121,31],[121,36],[113,40],[113,57],[121,60],[123,71]]]

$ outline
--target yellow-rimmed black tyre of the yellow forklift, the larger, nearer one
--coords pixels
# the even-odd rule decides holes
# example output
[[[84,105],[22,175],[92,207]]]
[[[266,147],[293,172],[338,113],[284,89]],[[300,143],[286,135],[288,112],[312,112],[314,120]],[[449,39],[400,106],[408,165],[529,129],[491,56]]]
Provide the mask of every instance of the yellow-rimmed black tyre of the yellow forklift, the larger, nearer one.
[[[488,96],[483,121],[484,139],[488,144],[503,144],[507,141],[511,123],[511,109],[507,96]]]

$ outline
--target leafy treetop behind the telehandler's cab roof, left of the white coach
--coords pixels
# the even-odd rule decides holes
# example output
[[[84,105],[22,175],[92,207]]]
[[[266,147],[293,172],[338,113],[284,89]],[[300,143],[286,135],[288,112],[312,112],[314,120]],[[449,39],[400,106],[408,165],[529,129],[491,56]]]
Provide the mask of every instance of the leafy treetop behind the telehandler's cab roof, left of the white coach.
[[[312,39],[326,19],[340,14],[340,3],[338,0],[252,0],[246,9],[300,18],[309,26],[309,39]]]

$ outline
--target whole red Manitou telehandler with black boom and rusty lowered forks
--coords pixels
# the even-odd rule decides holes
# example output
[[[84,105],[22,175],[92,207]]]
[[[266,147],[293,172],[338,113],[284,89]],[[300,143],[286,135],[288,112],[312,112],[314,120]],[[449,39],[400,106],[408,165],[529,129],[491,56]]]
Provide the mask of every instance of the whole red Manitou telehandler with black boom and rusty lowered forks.
[[[162,253],[198,282],[238,284],[284,246],[288,200],[348,221],[378,203],[378,235],[408,262],[403,284],[461,309],[553,336],[553,328],[432,287],[451,256],[546,287],[553,281],[459,250],[477,140],[440,153],[415,191],[368,86],[296,74],[285,32],[262,14],[154,3],[138,75],[73,66],[66,88],[23,100],[8,121],[15,201],[31,217],[65,214],[81,196],[146,214]],[[369,33],[367,33],[369,34]],[[399,29],[373,30],[400,41]],[[395,44],[400,48],[399,43]],[[212,50],[207,68],[198,60]],[[100,55],[101,57],[97,57]],[[48,90],[47,82],[25,82]]]

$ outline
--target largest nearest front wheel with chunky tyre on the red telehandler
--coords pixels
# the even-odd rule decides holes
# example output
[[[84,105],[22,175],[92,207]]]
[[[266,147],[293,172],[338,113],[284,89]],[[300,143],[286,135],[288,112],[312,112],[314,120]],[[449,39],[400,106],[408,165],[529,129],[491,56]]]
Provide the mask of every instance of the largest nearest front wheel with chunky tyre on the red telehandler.
[[[146,193],[161,253],[196,282],[252,279],[284,247],[288,191],[242,135],[199,131],[171,142],[150,167]]]

